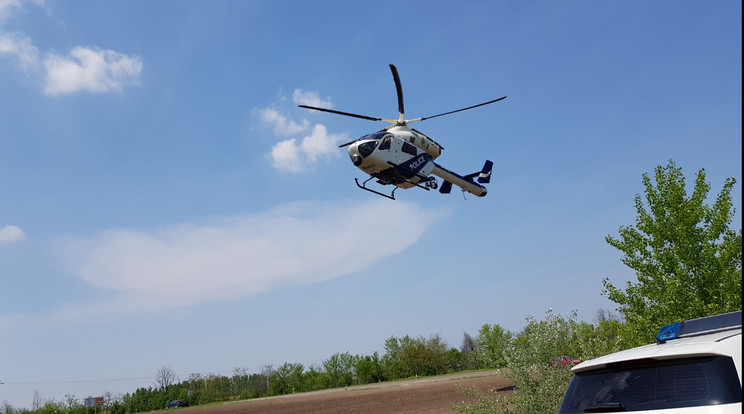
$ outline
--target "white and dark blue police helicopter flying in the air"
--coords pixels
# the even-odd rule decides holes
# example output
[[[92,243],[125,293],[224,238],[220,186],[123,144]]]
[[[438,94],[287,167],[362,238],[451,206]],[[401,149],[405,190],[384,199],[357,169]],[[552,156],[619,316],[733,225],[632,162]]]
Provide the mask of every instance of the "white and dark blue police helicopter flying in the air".
[[[449,194],[452,191],[452,185],[454,184],[462,189],[463,194],[468,192],[478,197],[484,197],[487,194],[487,191],[486,187],[482,184],[490,182],[493,162],[486,160],[480,171],[464,176],[459,175],[434,162],[434,160],[442,154],[444,147],[424,135],[421,131],[417,131],[408,125],[413,122],[424,121],[492,104],[502,99],[506,99],[506,96],[438,115],[406,119],[403,107],[403,87],[401,86],[398,69],[395,65],[391,64],[390,71],[393,73],[395,90],[398,95],[398,119],[359,115],[316,106],[298,106],[300,108],[330,112],[332,114],[361,118],[369,121],[384,121],[391,123],[391,125],[377,132],[364,135],[358,139],[339,145],[339,148],[348,147],[349,157],[351,158],[352,164],[369,174],[370,177],[361,184],[359,183],[358,178],[354,178],[357,186],[363,190],[395,200],[395,190],[398,188],[407,189],[418,187],[427,191],[439,188],[440,193]],[[443,180],[441,187],[439,187],[437,179],[432,177],[432,175]],[[473,180],[476,177],[477,182]],[[395,188],[390,192],[390,194],[386,194],[367,187],[367,183],[373,179],[376,179],[377,183],[380,185],[393,185]]]

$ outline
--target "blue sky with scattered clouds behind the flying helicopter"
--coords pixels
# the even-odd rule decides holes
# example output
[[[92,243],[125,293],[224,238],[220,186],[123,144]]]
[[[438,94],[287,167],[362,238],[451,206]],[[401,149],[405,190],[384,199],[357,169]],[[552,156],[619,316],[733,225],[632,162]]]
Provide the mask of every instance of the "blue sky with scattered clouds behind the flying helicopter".
[[[0,0],[0,401],[459,347],[614,306],[604,237],[672,159],[741,227],[741,2]],[[421,122],[485,198],[359,191],[339,143]]]

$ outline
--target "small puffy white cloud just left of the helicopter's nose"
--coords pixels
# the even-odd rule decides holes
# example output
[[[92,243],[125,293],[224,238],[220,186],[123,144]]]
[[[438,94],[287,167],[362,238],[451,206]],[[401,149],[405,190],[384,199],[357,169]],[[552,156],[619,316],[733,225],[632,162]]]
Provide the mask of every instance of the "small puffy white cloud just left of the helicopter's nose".
[[[300,144],[294,138],[278,142],[271,148],[274,167],[280,171],[300,173],[312,170],[321,158],[338,156],[337,143],[346,134],[329,134],[325,125],[316,124]]]

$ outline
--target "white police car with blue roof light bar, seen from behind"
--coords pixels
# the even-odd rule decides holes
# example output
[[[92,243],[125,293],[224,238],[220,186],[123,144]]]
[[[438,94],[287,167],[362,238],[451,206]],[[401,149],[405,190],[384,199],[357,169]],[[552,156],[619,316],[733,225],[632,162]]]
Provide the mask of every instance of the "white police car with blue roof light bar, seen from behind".
[[[741,414],[741,311],[666,325],[656,339],[573,367],[559,413]]]

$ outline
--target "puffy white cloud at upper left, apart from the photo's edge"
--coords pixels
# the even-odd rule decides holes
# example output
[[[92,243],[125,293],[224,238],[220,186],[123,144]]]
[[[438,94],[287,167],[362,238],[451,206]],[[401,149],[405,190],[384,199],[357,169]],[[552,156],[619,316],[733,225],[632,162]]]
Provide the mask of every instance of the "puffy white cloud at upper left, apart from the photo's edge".
[[[139,82],[142,60],[113,50],[77,46],[67,56],[49,54],[44,60],[48,95],[87,91],[121,91]]]

